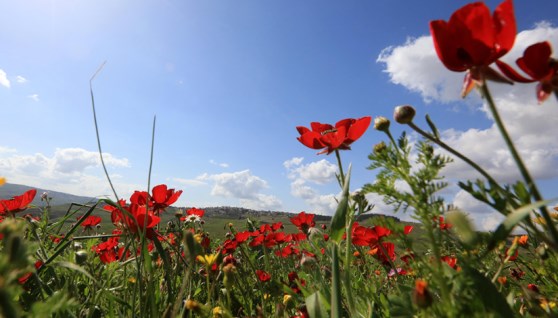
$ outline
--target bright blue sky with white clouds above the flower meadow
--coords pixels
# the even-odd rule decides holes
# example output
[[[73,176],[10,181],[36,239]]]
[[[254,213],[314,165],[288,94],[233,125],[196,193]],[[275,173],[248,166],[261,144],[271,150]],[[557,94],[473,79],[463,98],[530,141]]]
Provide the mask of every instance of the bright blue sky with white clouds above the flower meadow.
[[[428,22],[447,20],[466,3],[4,1],[0,175],[80,195],[111,193],[89,97],[89,78],[107,61],[94,90],[121,197],[146,187],[156,115],[152,184],[184,190],[180,205],[329,214],[338,193],[335,158],[301,145],[295,127],[391,118],[400,104],[414,105],[417,118],[429,113],[448,142],[512,181],[517,174],[482,102],[475,94],[461,100],[463,74],[433,55]],[[499,1],[486,3],[494,9]],[[536,41],[558,47],[558,2],[536,4],[514,3],[520,35],[509,61]],[[543,192],[556,197],[556,101],[537,105],[529,85],[494,91]],[[403,128],[392,127],[395,135]],[[374,180],[367,155],[384,139],[370,129],[343,152],[353,189]],[[446,175],[475,177],[460,163]],[[495,222],[458,189],[448,196],[477,223]],[[389,212],[380,203],[376,210]]]

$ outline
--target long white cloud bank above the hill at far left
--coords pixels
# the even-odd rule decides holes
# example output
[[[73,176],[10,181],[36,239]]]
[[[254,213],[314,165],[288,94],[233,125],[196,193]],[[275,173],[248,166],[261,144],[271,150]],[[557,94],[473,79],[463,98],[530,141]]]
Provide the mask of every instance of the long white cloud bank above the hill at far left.
[[[0,171],[11,183],[25,184],[77,195],[110,195],[106,178],[100,174],[99,154],[81,148],[56,149],[52,156],[42,153],[33,155],[0,151]],[[109,167],[129,167],[128,159],[104,154]],[[117,178],[117,175],[111,177]],[[115,181],[115,180],[113,180]],[[118,181],[118,180],[117,180]],[[122,193],[131,193],[137,185],[115,182]],[[122,194],[119,193],[119,194]]]

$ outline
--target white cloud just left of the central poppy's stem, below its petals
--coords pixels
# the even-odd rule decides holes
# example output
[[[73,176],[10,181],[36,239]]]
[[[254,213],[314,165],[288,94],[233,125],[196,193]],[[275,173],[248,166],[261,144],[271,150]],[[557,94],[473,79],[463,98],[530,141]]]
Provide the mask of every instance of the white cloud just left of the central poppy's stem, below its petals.
[[[283,163],[289,179],[293,180],[291,194],[303,199],[313,209],[313,213],[333,214],[337,208],[336,195],[320,194],[307,183],[318,185],[331,183],[335,180],[337,167],[325,159],[308,164],[302,164],[303,160],[301,157],[294,157]]]

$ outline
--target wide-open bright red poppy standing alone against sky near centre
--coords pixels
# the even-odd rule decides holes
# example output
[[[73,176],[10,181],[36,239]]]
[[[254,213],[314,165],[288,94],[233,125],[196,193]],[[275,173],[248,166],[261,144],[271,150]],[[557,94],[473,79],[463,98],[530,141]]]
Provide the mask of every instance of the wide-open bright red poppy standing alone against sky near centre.
[[[302,126],[296,127],[300,133],[300,137],[297,139],[312,149],[326,148],[318,154],[327,153],[329,155],[337,149],[351,149],[350,145],[364,134],[370,126],[371,120],[370,116],[359,119],[347,118],[338,121],[335,126],[313,122],[310,123],[312,130]]]

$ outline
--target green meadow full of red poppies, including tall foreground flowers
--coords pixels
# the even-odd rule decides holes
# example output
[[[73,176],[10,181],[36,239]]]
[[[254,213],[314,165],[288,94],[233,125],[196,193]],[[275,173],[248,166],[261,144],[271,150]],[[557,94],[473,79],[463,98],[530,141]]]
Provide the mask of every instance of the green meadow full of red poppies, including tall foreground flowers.
[[[537,82],[533,98],[558,98],[558,61],[548,42],[529,46],[517,65],[499,60],[516,36],[510,0],[493,14],[483,3],[466,5],[430,30],[441,62],[465,73],[462,95],[483,97],[521,180],[496,181],[445,143],[428,116],[415,121],[415,109],[401,105],[391,120],[297,127],[303,146],[337,162],[341,195],[328,221],[303,211],[208,217],[173,208],[182,190],[165,184],[56,218],[45,197],[34,216],[26,214],[31,189],[0,200],[1,316],[557,317],[555,201],[542,197],[489,86]],[[408,131],[393,136],[392,121]],[[385,139],[368,154],[376,179],[352,191],[342,154],[365,133]],[[449,186],[441,171],[454,160],[480,176],[458,186],[504,217],[494,231],[478,231],[440,194]],[[372,208],[367,194],[415,222],[361,220]]]

